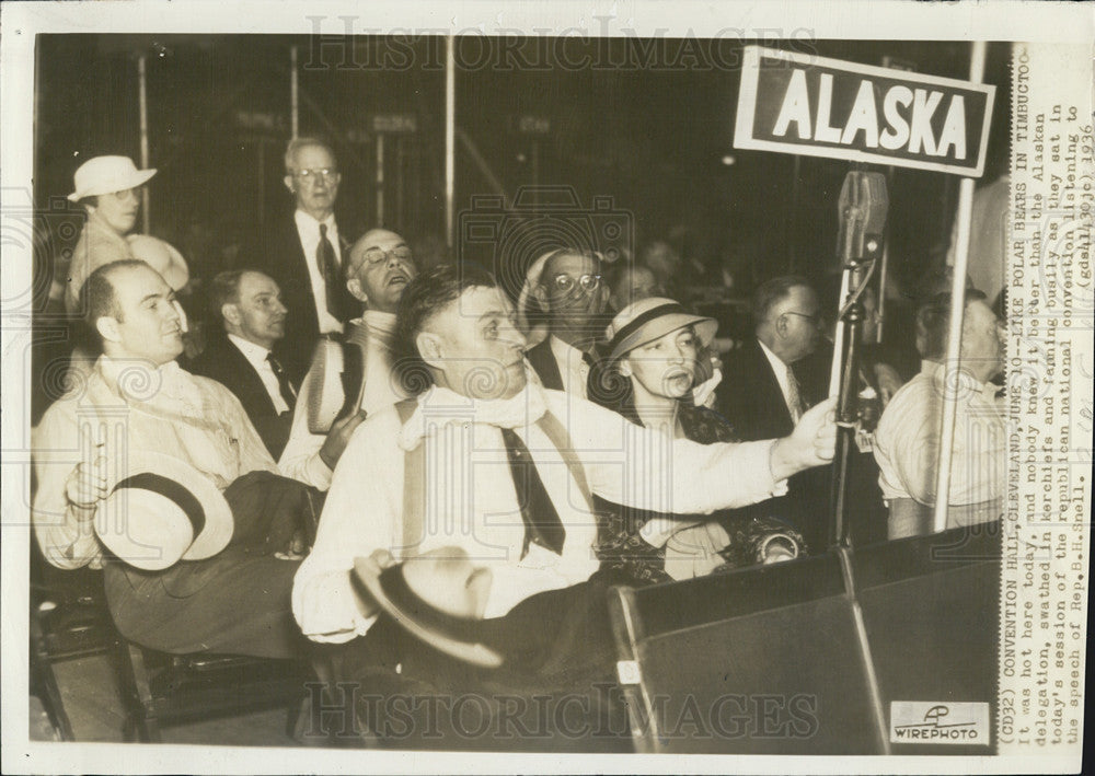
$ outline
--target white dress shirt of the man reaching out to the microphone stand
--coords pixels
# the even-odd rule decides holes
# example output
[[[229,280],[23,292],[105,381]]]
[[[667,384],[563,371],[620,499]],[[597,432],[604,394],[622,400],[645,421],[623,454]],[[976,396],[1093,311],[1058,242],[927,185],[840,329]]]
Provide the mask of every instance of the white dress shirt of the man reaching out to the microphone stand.
[[[782,491],[769,464],[771,441],[696,444],[670,440],[561,391],[529,384],[505,402],[471,399],[439,387],[418,397],[401,425],[394,407],[358,427],[335,468],[311,554],[293,583],[292,610],[304,635],[339,642],[368,630],[350,582],[354,558],[387,549],[396,558],[462,547],[493,584],[486,616],[529,595],[585,581],[599,566],[597,517],[558,449],[535,425],[544,409],[567,429],[589,488],[610,501],[665,513],[707,513]],[[487,418],[491,419],[486,422]],[[531,453],[566,530],[561,555],[532,545],[521,557],[525,524],[499,426],[512,427]],[[424,540],[404,546],[405,449],[426,444]]]

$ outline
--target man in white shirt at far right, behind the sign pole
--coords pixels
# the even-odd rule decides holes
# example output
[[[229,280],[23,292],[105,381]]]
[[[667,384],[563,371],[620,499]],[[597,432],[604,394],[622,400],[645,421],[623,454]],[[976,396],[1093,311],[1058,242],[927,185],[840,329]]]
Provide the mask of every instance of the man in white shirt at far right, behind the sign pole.
[[[1003,322],[980,291],[966,291],[965,305],[957,364],[944,362],[950,294],[936,294],[917,311],[920,373],[894,394],[875,431],[878,485],[889,505],[890,538],[931,533],[943,453],[941,419],[948,401],[957,407],[947,528],[988,522],[1002,513],[1007,433],[998,386],[991,380],[1003,369]]]

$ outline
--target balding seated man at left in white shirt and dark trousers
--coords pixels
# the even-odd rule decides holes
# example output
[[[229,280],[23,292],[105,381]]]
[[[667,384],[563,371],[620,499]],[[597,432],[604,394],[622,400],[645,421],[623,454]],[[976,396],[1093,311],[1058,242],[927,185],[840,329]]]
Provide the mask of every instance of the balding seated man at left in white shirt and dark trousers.
[[[240,401],[178,367],[183,318],[174,292],[143,262],[104,265],[83,289],[103,355],[87,384],[59,398],[35,429],[32,514],[44,557],[58,568],[104,569],[118,630],[169,652],[303,655],[289,610],[310,494],[280,477]],[[223,493],[232,535],[221,552],[141,570],[105,552],[96,510],[131,464],[169,456]],[[129,463],[127,463],[129,462]],[[128,503],[128,519],[140,503]],[[314,518],[313,518],[314,519]],[[197,523],[195,523],[197,525]],[[134,559],[134,558],[130,558]]]

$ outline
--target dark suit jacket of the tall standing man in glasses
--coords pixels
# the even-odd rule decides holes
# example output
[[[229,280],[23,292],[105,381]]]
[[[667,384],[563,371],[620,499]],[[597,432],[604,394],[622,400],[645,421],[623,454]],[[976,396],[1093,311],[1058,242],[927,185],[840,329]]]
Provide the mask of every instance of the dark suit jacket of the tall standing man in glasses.
[[[339,247],[345,263],[350,244],[338,232]],[[260,269],[274,278],[281,288],[281,301],[289,310],[286,320],[285,338],[274,348],[289,377],[303,380],[311,363],[315,340],[320,336],[320,321],[315,314],[315,298],[312,296],[312,279],[304,260],[304,248],[300,244],[293,215],[276,222],[262,238],[257,248],[245,256],[247,266]],[[345,311],[343,323],[361,314],[361,303],[346,290],[345,282],[338,285],[342,293],[341,305]],[[338,315],[335,315],[338,317]]]

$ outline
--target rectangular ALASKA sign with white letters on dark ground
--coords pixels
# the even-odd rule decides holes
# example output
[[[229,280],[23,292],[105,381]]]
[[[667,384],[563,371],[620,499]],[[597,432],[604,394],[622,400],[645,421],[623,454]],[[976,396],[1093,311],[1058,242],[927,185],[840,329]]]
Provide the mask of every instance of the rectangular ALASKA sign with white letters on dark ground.
[[[980,177],[995,91],[747,46],[734,147]]]

